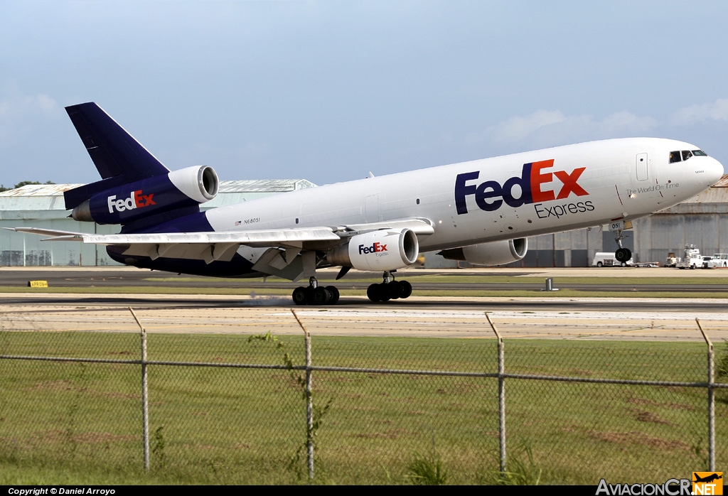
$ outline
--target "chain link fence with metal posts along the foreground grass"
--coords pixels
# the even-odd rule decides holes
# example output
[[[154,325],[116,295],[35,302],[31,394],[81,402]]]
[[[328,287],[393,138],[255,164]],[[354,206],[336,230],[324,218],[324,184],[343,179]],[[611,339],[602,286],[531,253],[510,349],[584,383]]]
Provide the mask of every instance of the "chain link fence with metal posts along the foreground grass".
[[[707,337],[337,337],[299,323],[279,336],[7,320],[0,467],[186,484],[596,484],[728,461],[728,384],[710,372],[728,353]]]

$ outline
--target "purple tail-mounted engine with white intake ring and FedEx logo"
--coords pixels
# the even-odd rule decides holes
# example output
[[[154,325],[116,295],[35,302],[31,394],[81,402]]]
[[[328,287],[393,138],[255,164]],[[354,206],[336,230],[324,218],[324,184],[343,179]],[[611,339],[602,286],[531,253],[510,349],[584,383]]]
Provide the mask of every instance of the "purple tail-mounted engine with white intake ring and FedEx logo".
[[[219,183],[212,167],[187,167],[96,193],[74,208],[71,217],[99,224],[128,224],[205,203],[218,194]]]

